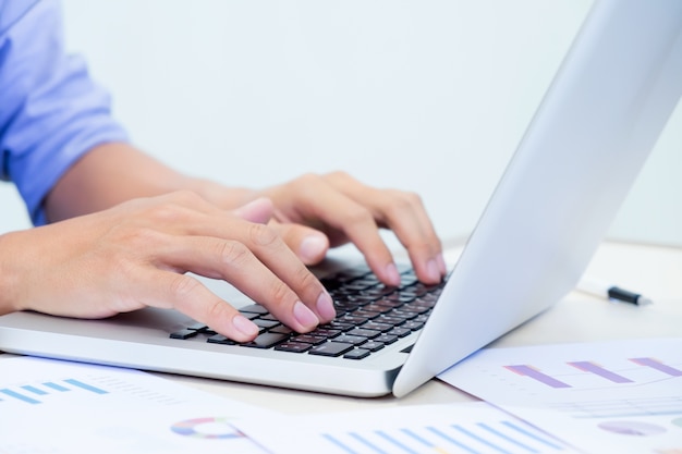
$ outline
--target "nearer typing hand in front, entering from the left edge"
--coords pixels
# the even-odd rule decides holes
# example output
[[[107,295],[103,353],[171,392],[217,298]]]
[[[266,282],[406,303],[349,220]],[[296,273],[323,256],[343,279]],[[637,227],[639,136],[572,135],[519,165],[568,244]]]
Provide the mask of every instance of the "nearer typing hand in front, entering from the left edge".
[[[306,332],[334,317],[331,298],[282,238],[258,199],[227,212],[191,192],[0,236],[0,309],[101,318],[175,308],[244,342],[256,326],[186,271],[223,279]],[[0,310],[7,311],[7,310]]]

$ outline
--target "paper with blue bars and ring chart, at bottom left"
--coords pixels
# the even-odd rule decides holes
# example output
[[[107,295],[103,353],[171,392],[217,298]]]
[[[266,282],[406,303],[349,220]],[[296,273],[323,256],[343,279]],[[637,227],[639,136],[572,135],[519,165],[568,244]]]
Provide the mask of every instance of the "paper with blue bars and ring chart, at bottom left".
[[[271,414],[149,373],[0,360],[2,454],[263,454],[232,424]]]

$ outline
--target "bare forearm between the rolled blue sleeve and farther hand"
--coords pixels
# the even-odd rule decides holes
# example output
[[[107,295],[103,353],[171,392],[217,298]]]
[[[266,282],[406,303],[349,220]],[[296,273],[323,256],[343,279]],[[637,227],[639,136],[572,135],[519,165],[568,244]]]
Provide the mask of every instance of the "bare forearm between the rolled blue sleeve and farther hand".
[[[252,198],[248,189],[184,175],[127,144],[113,143],[90,150],[64,173],[46,198],[46,212],[56,222],[132,198],[183,189],[226,209]]]

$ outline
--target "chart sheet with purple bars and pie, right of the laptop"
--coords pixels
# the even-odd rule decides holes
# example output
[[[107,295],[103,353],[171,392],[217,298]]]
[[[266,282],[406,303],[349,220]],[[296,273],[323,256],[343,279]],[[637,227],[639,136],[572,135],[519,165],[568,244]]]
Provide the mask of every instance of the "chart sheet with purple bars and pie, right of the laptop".
[[[439,378],[586,452],[682,454],[682,339],[487,348]]]

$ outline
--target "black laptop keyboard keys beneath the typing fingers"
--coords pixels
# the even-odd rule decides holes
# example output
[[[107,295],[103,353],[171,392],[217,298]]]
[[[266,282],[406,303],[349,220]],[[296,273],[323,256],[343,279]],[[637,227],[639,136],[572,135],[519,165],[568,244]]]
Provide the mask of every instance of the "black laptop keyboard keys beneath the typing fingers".
[[[260,305],[240,312],[260,328],[258,336],[238,343],[195,323],[170,334],[171,339],[205,338],[211,344],[270,348],[305,355],[363,359],[400,338],[419,331],[436,305],[444,282],[421,283],[409,267],[401,270],[399,286],[382,284],[366,266],[337,272],[321,280],[331,295],[337,318],[312,332],[296,333]]]

